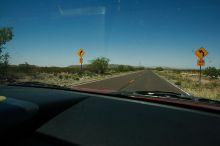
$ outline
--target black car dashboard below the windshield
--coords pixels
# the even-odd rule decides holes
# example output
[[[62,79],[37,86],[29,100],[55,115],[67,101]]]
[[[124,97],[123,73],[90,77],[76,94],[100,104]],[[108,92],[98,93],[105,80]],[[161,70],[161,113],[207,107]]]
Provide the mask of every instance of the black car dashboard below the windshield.
[[[50,88],[0,86],[5,145],[219,146],[220,114]]]

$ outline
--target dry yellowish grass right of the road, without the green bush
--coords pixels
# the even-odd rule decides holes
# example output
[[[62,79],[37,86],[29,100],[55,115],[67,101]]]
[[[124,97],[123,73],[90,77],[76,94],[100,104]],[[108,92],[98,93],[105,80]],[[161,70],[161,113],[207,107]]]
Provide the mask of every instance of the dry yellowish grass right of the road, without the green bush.
[[[164,70],[155,71],[155,73],[193,96],[220,100],[220,79],[203,76],[199,83],[199,75],[191,72]]]

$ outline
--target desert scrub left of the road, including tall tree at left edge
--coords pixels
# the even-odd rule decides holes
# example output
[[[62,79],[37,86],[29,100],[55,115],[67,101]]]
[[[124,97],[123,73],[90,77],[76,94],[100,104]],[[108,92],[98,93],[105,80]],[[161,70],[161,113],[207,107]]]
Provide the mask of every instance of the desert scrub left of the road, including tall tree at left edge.
[[[0,84],[14,82],[41,82],[71,87],[88,80],[100,80],[132,71],[143,70],[144,67],[129,65],[112,65],[105,57],[98,57],[90,64],[68,67],[41,67],[24,62],[10,65],[10,55],[6,43],[13,39],[13,28],[0,28]]]

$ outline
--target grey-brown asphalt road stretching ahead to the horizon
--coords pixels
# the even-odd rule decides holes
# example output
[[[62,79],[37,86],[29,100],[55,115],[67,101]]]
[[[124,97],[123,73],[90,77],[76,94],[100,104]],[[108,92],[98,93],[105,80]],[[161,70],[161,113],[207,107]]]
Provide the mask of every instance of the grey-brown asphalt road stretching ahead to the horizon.
[[[79,85],[77,87],[114,91],[169,91],[185,94],[150,70]]]

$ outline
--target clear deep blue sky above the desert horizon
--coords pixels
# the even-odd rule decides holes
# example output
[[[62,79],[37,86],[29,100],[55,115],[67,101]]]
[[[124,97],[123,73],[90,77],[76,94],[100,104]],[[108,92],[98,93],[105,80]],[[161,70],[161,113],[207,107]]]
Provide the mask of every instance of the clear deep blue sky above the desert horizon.
[[[12,26],[11,64],[79,64],[104,56],[113,64],[197,68],[194,51],[208,50],[206,66],[220,68],[218,0],[5,0],[0,27]]]

